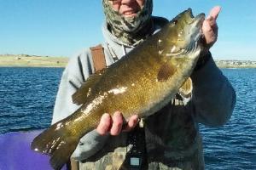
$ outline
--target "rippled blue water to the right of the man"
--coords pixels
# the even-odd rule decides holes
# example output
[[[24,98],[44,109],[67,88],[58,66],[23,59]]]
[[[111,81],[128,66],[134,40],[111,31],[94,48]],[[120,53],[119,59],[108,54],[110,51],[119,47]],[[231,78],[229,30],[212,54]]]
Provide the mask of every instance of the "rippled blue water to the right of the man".
[[[256,69],[225,69],[236,107],[224,127],[201,126],[207,169],[256,169]]]

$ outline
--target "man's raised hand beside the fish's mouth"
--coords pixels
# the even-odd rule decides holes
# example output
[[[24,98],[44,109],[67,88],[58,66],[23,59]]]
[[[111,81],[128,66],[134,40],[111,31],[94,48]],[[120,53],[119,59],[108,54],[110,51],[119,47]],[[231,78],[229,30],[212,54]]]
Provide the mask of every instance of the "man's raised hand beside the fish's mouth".
[[[221,8],[219,6],[213,7],[206,20],[203,22],[202,31],[205,37],[207,50],[217,41],[218,37],[218,26],[217,18]]]

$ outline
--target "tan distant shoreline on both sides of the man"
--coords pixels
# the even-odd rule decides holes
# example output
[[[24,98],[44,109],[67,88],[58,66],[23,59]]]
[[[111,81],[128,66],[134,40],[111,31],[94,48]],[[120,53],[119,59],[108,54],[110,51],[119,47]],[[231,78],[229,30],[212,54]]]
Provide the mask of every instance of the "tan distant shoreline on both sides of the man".
[[[45,67],[65,68],[68,57],[49,57],[27,54],[0,54],[0,67]],[[250,60],[214,60],[219,68],[256,68],[256,61]]]

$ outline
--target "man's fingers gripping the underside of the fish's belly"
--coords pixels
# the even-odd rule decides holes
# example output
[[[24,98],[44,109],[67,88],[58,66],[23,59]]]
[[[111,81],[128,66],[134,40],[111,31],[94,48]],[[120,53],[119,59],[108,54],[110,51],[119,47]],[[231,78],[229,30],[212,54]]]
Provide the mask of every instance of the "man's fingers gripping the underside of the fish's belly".
[[[101,122],[98,127],[96,127],[96,132],[101,135],[106,135],[110,133],[113,136],[119,135],[121,131],[130,131],[136,127],[138,122],[138,116],[133,115],[130,117],[128,122],[125,122],[124,116],[120,111],[113,113],[113,116],[110,116],[108,113],[102,115]],[[125,127],[123,126],[125,124]]]

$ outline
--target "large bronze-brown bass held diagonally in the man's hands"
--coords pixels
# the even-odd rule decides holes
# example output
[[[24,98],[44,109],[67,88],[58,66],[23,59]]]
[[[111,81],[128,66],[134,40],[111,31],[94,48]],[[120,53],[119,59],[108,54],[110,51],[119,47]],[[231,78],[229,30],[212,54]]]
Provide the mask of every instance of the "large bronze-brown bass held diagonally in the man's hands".
[[[31,149],[49,155],[51,167],[61,169],[103,113],[146,117],[160,111],[180,89],[186,93],[205,48],[204,20],[205,14],[194,17],[191,8],[184,10],[122,59],[91,75],[72,96],[79,109],[40,133]]]

